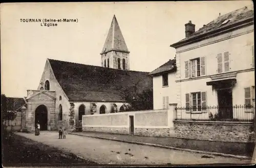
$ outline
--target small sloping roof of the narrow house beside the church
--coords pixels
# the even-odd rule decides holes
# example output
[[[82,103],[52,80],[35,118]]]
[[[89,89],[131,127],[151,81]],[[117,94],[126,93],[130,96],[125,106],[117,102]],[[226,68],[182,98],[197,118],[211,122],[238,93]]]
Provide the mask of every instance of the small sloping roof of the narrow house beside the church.
[[[163,65],[159,66],[155,70],[153,70],[149,75],[161,75],[164,72],[172,72],[176,71],[176,59],[168,60]]]

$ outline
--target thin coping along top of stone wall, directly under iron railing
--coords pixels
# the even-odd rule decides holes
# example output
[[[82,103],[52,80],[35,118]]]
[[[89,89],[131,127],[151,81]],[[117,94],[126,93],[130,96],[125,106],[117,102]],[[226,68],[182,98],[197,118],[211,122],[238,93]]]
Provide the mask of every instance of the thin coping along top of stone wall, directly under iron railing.
[[[221,122],[221,121],[174,121],[174,123],[195,123],[195,124],[223,124],[223,125],[253,125],[253,122]]]

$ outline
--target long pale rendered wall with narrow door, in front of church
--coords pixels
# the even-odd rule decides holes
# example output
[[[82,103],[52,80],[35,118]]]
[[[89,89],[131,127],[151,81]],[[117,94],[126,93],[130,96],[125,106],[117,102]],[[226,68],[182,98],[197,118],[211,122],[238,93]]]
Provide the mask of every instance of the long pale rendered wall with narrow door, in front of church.
[[[130,116],[134,118],[134,131]],[[170,136],[169,111],[145,110],[121,113],[83,115],[82,130],[140,136]]]

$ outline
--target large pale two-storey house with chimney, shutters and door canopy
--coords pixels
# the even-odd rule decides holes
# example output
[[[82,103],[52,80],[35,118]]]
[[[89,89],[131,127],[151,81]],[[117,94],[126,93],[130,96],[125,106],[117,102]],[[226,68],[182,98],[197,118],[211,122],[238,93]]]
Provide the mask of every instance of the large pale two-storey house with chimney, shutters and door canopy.
[[[176,49],[177,103],[185,107],[177,117],[253,117],[253,20],[253,6],[248,6],[221,15],[196,32],[191,21],[185,24],[185,38],[170,45]]]

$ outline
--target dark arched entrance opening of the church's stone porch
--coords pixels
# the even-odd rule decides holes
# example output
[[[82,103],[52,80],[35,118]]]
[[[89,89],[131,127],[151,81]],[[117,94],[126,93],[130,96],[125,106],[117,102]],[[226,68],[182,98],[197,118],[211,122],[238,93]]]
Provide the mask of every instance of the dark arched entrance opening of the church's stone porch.
[[[40,105],[35,109],[35,124],[39,122],[40,130],[47,130],[48,111],[45,105]]]

